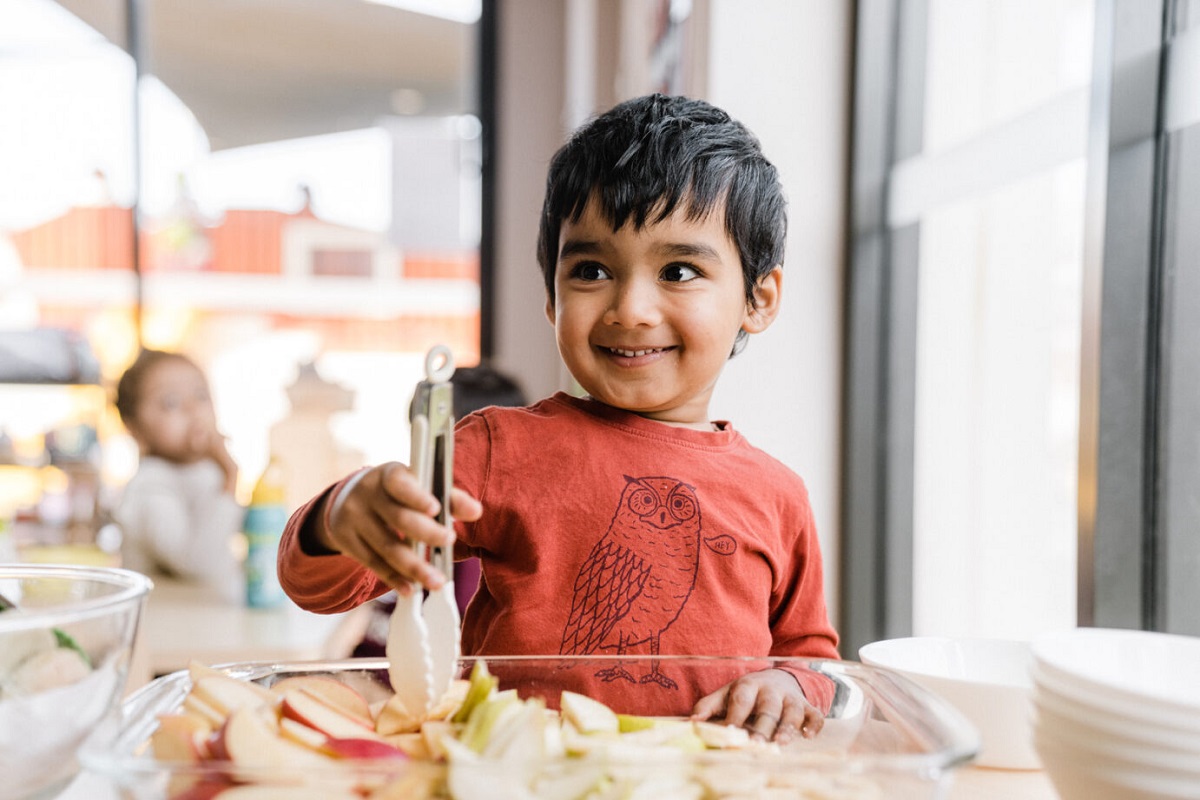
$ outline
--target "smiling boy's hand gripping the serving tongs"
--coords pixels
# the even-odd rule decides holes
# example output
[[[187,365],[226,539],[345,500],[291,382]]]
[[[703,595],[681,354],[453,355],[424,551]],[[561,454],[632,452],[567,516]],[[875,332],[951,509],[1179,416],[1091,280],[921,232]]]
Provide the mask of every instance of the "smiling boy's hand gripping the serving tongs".
[[[379,579],[408,596],[413,583],[438,589],[446,577],[416,557],[413,542],[452,547],[454,531],[439,524],[438,499],[421,487],[404,464],[389,462],[350,479],[320,512],[317,539],[325,548],[359,561]],[[450,515],[475,522],[484,507],[462,489],[450,492]]]

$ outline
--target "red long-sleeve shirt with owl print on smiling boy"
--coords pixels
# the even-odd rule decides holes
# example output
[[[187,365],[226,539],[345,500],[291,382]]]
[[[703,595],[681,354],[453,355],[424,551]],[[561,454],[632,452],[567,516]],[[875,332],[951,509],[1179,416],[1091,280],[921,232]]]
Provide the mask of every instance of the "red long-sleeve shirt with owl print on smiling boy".
[[[455,483],[484,505],[479,522],[456,523],[457,554],[482,567],[463,652],[836,658],[803,481],[719,427],[667,426],[563,393],[461,420]],[[314,501],[280,548],[289,596],[331,613],[386,591],[346,557],[304,552]],[[646,681],[584,676],[575,688],[678,714],[706,687],[679,688],[694,681],[671,668]],[[820,679],[800,682],[827,704]]]

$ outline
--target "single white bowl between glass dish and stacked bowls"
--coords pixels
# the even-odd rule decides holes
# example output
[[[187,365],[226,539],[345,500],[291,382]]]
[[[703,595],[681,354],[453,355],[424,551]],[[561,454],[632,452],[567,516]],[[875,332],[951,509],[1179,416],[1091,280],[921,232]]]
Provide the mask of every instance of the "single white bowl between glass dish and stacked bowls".
[[[979,766],[1038,769],[1030,646],[1012,639],[910,637],[863,645],[858,657],[940,694],[979,729]]]

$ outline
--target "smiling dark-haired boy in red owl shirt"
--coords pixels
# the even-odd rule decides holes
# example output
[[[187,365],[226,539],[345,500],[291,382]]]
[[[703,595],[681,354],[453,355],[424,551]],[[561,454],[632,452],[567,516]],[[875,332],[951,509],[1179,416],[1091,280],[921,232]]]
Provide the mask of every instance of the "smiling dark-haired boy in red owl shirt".
[[[622,103],[558,151],[538,257],[587,397],[456,428],[456,554],[484,575],[466,654],[838,657],[804,483],[708,416],[726,360],[779,313],[785,233],[775,168],[704,102]],[[331,487],[284,534],[286,590],[331,613],[442,585],[403,541],[451,540],[436,507],[397,463]],[[803,670],[751,672],[696,700],[668,660],[644,674],[598,664],[584,691],[618,710],[688,697],[696,718],[779,741],[812,735],[814,703],[829,699]]]

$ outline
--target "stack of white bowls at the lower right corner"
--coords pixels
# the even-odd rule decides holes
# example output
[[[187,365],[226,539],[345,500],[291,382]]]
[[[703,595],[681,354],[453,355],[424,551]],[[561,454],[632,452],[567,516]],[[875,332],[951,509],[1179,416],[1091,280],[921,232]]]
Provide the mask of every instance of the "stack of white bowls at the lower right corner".
[[[1063,800],[1200,800],[1200,638],[1033,640],[1034,744]]]

